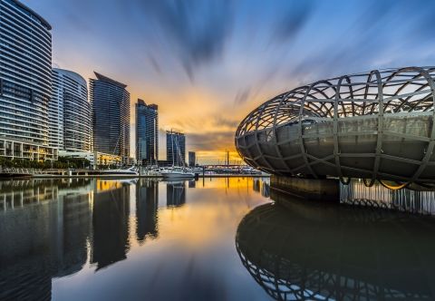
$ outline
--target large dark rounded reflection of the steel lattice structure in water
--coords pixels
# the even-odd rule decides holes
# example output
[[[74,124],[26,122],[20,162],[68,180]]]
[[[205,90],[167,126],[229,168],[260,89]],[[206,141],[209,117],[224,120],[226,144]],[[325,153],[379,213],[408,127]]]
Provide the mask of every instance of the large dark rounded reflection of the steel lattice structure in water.
[[[288,199],[253,209],[237,252],[279,300],[435,297],[435,220],[401,212]],[[285,204],[285,208],[281,205]]]

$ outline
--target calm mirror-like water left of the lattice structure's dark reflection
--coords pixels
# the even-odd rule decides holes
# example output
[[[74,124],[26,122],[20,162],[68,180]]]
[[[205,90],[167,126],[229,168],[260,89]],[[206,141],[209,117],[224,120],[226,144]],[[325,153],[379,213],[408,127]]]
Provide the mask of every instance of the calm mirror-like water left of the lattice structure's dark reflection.
[[[261,299],[233,241],[267,201],[250,178],[0,181],[0,300]]]

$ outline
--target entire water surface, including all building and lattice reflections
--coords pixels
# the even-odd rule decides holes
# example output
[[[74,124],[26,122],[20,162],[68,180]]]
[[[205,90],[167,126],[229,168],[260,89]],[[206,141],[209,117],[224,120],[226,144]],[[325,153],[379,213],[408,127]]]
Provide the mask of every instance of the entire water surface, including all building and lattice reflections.
[[[434,220],[266,179],[0,181],[0,300],[430,300]]]

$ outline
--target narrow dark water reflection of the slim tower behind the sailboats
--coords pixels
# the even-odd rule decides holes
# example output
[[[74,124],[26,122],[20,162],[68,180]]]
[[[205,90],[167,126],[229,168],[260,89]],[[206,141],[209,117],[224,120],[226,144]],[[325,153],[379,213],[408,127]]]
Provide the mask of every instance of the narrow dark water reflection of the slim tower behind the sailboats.
[[[157,238],[159,181],[140,179],[136,185],[136,237],[143,243],[146,237]]]

